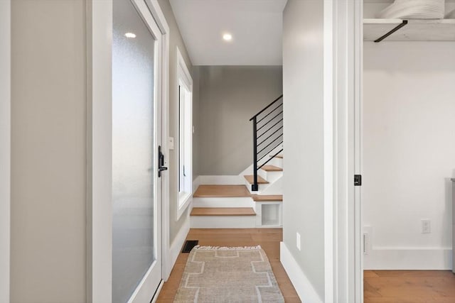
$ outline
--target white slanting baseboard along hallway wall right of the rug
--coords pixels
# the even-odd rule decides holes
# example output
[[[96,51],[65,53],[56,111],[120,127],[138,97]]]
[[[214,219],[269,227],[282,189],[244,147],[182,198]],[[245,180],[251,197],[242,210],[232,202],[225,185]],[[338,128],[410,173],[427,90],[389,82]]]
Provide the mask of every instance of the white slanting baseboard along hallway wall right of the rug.
[[[291,280],[292,285],[294,285],[297,294],[299,294],[301,302],[322,303],[323,299],[321,299],[316,290],[314,290],[313,285],[301,270],[299,264],[291,255],[291,252],[284,242],[281,242],[279,245],[279,253],[279,260],[282,263],[284,270],[286,270],[289,280]]]

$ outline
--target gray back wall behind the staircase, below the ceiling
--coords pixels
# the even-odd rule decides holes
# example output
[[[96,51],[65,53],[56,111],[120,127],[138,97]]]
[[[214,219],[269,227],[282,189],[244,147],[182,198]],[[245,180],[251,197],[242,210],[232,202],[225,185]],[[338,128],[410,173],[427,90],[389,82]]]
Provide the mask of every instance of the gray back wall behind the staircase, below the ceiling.
[[[282,95],[281,66],[200,66],[199,175],[238,175],[252,164],[252,123]]]

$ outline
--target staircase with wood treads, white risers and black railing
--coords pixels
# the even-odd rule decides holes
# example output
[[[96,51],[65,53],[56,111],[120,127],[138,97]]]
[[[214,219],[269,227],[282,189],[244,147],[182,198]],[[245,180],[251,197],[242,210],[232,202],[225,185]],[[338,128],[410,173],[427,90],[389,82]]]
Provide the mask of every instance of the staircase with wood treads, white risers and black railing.
[[[281,96],[250,119],[253,163],[240,173],[239,184],[202,184],[196,189],[192,228],[282,226],[282,101]]]

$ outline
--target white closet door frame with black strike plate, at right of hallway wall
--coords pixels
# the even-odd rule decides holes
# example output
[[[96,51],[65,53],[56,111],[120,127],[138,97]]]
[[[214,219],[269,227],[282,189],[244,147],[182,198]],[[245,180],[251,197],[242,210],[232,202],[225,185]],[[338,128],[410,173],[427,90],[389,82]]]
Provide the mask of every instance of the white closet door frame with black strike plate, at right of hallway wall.
[[[361,101],[363,0],[325,1],[331,4],[330,39],[333,61],[331,87],[333,103],[333,254],[326,263],[333,265],[326,280],[326,302],[363,302],[363,254],[360,226],[360,187],[354,187],[354,174],[361,173]],[[327,214],[326,214],[327,215]],[[329,216],[328,216],[329,217]],[[330,227],[330,226],[329,226]],[[327,260],[328,257],[332,260]],[[326,272],[328,274],[328,272]],[[327,289],[328,285],[328,289]],[[331,285],[333,285],[332,288]]]

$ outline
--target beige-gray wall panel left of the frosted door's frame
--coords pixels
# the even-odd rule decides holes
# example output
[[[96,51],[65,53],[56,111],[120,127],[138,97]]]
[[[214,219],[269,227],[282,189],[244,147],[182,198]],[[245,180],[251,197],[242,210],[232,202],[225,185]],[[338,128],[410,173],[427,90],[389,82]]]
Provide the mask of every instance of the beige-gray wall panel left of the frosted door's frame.
[[[85,1],[11,10],[11,302],[85,302]]]

